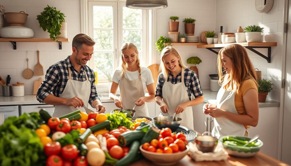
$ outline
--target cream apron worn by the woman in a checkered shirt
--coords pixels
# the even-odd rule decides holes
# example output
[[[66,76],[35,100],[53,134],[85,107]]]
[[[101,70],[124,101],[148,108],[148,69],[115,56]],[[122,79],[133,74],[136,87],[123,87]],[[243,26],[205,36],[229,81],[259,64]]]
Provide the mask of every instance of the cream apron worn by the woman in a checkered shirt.
[[[168,106],[168,112],[170,115],[173,115],[175,109],[181,103],[189,101],[189,96],[187,93],[186,86],[184,84],[184,68],[182,68],[181,82],[172,84],[169,83],[168,78],[163,85],[163,101]],[[160,112],[159,116],[167,116],[167,114]],[[193,121],[193,111],[192,107],[187,107],[182,113],[177,114],[175,117],[182,118],[181,123],[185,124],[190,129],[194,129],[194,121]]]

